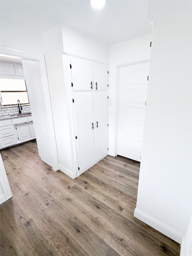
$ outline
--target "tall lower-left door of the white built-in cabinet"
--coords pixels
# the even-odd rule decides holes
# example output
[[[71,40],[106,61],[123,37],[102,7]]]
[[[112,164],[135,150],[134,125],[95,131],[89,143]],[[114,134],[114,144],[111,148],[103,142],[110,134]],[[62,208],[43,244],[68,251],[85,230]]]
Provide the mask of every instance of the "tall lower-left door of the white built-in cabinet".
[[[94,101],[92,94],[74,95],[79,172],[95,162]]]

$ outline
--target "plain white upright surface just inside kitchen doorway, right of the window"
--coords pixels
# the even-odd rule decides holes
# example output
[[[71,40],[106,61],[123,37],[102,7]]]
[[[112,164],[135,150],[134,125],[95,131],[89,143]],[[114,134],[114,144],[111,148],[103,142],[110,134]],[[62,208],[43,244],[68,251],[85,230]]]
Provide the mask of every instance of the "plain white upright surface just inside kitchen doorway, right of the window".
[[[54,151],[51,141],[49,117],[47,115],[47,99],[42,81],[39,62],[22,60],[23,70],[29,96],[29,102],[35,125],[35,135],[38,152],[41,160],[50,166],[54,166]]]

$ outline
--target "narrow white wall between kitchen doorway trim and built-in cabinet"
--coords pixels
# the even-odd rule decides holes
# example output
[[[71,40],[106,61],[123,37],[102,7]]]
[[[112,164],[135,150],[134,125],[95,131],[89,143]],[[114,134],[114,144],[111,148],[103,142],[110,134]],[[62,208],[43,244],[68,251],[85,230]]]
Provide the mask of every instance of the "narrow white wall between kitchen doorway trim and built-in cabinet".
[[[67,116],[66,93],[64,88],[63,40],[61,24],[42,34],[49,91],[52,104],[53,121],[61,166],[73,172],[70,131]]]

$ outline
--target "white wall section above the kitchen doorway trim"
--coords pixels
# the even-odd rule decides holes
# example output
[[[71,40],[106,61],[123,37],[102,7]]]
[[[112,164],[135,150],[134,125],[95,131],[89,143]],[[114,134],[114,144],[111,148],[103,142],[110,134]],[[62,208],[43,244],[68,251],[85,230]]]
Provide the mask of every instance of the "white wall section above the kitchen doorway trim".
[[[18,14],[19,15],[19,14]],[[1,20],[0,45],[14,49],[43,53],[41,34]]]

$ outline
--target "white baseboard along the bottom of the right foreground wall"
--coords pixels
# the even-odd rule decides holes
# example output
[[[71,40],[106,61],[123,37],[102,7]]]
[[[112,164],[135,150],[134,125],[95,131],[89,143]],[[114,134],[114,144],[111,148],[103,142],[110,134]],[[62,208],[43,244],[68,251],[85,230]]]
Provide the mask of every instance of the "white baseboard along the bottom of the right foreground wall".
[[[183,234],[178,232],[177,230],[173,229],[172,227],[164,224],[161,221],[158,221],[157,219],[151,217],[150,215],[140,211],[139,209],[135,208],[134,211],[134,217],[138,218],[140,221],[143,221],[144,223],[148,224],[149,226],[155,228],[165,236],[168,236],[169,238],[173,239],[174,241],[181,244]]]

